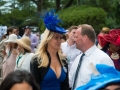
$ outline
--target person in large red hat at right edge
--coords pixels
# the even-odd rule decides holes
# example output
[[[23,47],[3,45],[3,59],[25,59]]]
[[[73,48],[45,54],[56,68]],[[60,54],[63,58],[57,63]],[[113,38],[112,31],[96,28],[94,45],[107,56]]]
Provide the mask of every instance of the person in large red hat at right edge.
[[[120,29],[113,29],[104,36],[99,37],[104,51],[114,62],[115,68],[120,71]]]

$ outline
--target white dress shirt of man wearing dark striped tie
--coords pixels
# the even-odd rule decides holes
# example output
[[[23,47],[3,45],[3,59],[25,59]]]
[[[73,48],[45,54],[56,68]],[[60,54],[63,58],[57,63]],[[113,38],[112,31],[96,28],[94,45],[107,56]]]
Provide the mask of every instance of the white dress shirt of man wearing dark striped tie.
[[[109,66],[114,66],[113,61],[110,59],[110,57],[106,53],[98,49],[95,45],[89,48],[84,54],[85,56],[83,56],[82,64],[76,79],[75,88],[86,84],[90,80],[90,77],[93,74],[92,70],[89,67],[90,63],[93,63],[94,66],[96,66],[96,64],[106,64]],[[80,54],[75,59],[71,66],[69,73],[70,87],[73,86],[76,69],[81,55],[82,54]]]

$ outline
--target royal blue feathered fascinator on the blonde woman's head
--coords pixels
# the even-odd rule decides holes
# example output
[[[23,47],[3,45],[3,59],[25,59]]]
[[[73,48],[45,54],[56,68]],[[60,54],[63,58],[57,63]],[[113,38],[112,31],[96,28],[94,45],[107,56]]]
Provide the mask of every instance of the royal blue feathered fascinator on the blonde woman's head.
[[[66,30],[58,25],[61,23],[61,20],[59,19],[58,15],[55,15],[54,10],[44,12],[41,18],[44,20],[44,24],[48,30],[60,34],[66,33]]]

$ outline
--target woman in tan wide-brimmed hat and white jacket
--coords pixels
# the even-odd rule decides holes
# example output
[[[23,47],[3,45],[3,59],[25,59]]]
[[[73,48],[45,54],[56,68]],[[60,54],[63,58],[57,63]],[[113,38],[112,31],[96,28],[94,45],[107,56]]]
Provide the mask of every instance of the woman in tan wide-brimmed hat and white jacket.
[[[26,70],[30,72],[30,60],[34,56],[31,53],[31,41],[28,37],[17,39],[19,55],[16,58],[15,70]]]

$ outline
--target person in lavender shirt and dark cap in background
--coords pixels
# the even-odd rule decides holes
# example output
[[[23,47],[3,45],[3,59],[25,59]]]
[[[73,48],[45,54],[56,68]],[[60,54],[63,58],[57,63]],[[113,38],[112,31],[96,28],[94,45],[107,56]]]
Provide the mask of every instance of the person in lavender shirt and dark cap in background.
[[[39,42],[36,34],[32,34],[30,27],[26,26],[25,27],[25,33],[24,33],[23,36],[27,36],[27,37],[30,38],[30,40],[31,40],[31,51],[34,53],[35,52],[34,48],[38,45],[38,42]]]

